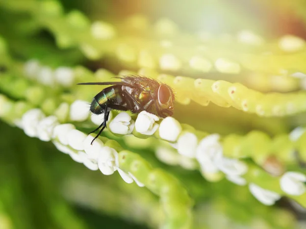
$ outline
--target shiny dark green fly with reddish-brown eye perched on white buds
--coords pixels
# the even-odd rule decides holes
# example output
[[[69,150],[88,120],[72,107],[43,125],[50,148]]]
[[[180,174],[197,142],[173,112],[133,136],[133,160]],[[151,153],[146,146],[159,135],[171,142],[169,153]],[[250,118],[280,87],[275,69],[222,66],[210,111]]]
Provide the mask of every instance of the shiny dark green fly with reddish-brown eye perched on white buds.
[[[100,91],[92,99],[90,111],[104,114],[104,121],[98,128],[90,132],[100,131],[92,142],[106,128],[111,110],[140,113],[147,111],[161,118],[172,116],[174,93],[171,87],[157,80],[140,75],[123,75],[115,77],[119,82],[80,83],[79,85],[113,85]],[[92,144],[91,142],[91,144]]]

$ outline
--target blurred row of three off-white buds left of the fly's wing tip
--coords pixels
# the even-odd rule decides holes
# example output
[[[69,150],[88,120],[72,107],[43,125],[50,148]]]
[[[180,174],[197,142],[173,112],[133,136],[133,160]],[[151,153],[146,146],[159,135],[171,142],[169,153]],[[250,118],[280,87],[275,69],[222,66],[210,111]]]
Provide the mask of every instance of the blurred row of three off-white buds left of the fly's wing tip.
[[[24,74],[46,86],[58,84],[70,87],[75,78],[73,69],[69,67],[58,67],[53,70],[50,67],[42,66],[37,60],[29,60],[24,64]]]

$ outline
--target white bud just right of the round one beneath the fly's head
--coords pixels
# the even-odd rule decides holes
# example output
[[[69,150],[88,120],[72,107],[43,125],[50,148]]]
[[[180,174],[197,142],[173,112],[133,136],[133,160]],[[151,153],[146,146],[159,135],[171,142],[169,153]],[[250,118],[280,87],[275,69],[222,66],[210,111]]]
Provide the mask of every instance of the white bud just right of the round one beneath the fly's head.
[[[197,137],[193,133],[184,133],[177,139],[177,151],[189,158],[195,157]]]

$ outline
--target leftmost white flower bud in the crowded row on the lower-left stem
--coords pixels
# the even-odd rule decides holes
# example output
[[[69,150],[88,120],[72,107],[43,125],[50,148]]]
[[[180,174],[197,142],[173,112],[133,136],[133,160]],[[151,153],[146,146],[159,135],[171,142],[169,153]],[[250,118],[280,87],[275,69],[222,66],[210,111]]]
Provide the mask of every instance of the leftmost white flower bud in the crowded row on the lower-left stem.
[[[30,137],[37,136],[37,125],[45,117],[40,109],[32,109],[22,115],[21,123],[24,133]]]

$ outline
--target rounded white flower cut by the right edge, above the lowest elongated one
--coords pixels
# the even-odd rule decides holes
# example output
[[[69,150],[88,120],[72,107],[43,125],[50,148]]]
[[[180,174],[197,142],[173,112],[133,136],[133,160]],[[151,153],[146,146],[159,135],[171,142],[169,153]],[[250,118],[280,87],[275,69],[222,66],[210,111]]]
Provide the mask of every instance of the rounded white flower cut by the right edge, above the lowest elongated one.
[[[289,195],[302,195],[306,192],[306,175],[300,172],[286,172],[280,180],[281,188]]]

